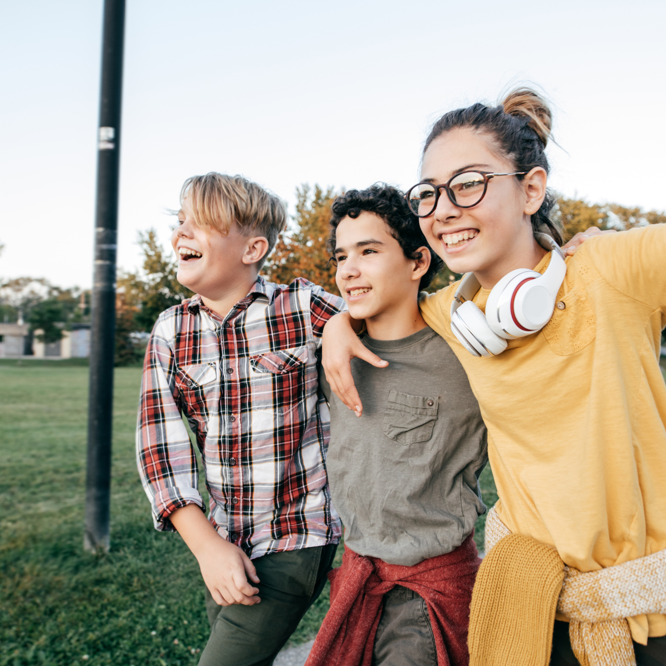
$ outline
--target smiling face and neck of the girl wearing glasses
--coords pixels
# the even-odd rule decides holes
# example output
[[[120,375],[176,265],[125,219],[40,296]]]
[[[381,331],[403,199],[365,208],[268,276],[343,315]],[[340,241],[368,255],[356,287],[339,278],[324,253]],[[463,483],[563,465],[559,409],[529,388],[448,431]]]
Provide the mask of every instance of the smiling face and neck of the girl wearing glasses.
[[[453,129],[435,139],[423,159],[422,180],[448,182],[462,171],[514,172],[488,135],[470,128]],[[474,272],[482,286],[492,287],[514,268],[533,268],[543,250],[533,238],[531,214],[545,196],[546,174],[535,167],[523,180],[496,176],[483,200],[458,208],[442,190],[436,210],[421,218],[430,246],[456,273]]]

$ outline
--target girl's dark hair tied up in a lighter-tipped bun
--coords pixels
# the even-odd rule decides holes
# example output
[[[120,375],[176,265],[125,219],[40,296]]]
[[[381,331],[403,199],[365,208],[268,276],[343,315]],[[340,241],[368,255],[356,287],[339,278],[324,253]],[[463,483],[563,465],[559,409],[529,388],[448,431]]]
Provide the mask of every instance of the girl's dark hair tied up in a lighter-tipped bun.
[[[550,169],[544,151],[552,123],[548,104],[539,93],[530,88],[516,88],[497,107],[477,103],[466,109],[445,113],[433,125],[423,154],[445,132],[457,127],[472,127],[490,135],[496,148],[513,163],[516,171],[530,171],[535,166],[541,166],[548,173]],[[531,216],[532,229],[553,236],[561,245],[561,224],[550,218],[554,205],[555,195],[548,189],[541,207]]]

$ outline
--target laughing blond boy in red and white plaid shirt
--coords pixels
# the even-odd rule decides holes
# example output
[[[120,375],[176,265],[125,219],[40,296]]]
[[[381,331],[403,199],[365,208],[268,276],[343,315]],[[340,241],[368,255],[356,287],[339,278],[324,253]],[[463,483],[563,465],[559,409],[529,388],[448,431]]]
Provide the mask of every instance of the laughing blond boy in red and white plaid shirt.
[[[180,533],[206,583],[211,634],[199,663],[270,664],[340,539],[315,352],[344,302],[300,278],[284,286],[258,275],[286,212],[257,184],[194,176],[180,202],[178,281],[196,296],[153,328],[137,462],[155,527]],[[181,412],[202,454],[208,518]]]

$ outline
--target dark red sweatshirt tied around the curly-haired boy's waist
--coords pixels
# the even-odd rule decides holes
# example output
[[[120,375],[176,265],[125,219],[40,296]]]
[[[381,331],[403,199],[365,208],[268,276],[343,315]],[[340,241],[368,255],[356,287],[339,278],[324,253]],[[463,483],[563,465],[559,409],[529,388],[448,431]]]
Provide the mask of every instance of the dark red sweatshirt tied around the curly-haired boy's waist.
[[[403,567],[345,549],[328,574],[331,606],[305,666],[370,666],[382,598],[396,585],[426,601],[438,666],[467,666],[472,588],[481,559],[472,534],[454,551]]]

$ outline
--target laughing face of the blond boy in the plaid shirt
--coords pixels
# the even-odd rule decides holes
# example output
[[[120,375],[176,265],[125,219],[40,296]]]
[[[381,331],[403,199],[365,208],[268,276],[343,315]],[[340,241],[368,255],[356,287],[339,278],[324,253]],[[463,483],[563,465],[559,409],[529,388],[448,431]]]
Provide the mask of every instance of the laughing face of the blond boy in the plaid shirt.
[[[248,238],[235,224],[226,235],[201,228],[194,222],[187,198],[178,211],[171,244],[178,256],[178,282],[210,300],[222,298],[247,268],[242,258]]]

